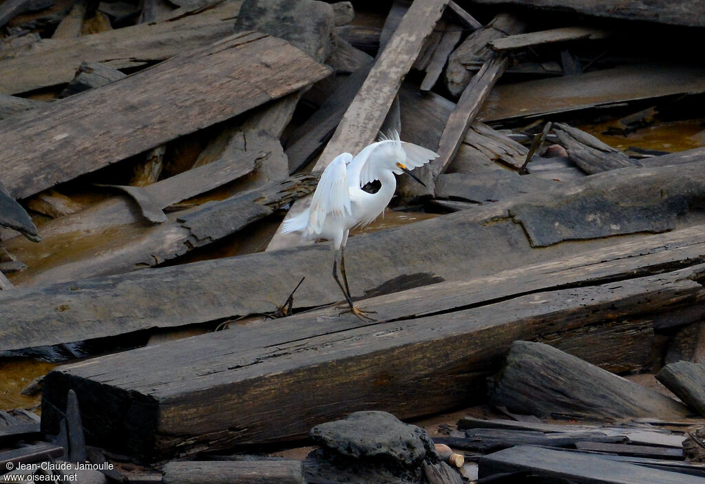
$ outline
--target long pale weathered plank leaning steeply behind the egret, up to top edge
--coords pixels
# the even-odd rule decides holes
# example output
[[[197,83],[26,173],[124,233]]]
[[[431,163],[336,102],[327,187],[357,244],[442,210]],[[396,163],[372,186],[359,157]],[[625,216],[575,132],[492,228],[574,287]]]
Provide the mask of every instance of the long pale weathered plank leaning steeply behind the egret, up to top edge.
[[[357,154],[376,139],[404,76],[418,56],[424,39],[441,18],[446,4],[448,0],[429,0],[410,6],[384,51],[376,58],[314,170],[323,170],[333,158],[346,151]],[[287,218],[301,211],[302,204],[303,201],[296,202]],[[296,234],[281,233],[280,226],[267,250],[293,247],[298,245],[299,239]]]

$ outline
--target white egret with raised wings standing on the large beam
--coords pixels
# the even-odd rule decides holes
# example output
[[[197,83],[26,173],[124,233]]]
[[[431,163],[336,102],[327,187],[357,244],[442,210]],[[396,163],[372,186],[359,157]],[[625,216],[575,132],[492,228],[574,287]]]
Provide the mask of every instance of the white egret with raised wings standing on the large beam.
[[[417,144],[400,141],[396,131],[374,142],[353,158],[343,153],[331,161],[321,174],[311,206],[284,222],[283,232],[302,232],[304,240],[327,239],[333,241],[333,279],[341,288],[350,311],[358,318],[374,321],[357,309],[350,295],[348,277],[345,275],[345,243],[350,229],[367,225],[384,211],[396,190],[394,174],[408,173],[424,185],[411,170],[418,168],[438,155]],[[381,187],[375,193],[362,190],[369,182],[379,180]],[[343,284],[338,279],[338,254],[341,259]]]

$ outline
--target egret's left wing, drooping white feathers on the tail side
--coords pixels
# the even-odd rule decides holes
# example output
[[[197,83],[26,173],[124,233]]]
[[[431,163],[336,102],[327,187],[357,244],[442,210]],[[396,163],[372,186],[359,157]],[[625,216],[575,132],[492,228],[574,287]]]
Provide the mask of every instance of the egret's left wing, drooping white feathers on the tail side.
[[[350,153],[340,154],[323,170],[309,208],[307,235],[319,235],[323,230],[326,217],[345,217],[353,214],[350,209],[350,192],[345,166],[352,160],[353,155]]]

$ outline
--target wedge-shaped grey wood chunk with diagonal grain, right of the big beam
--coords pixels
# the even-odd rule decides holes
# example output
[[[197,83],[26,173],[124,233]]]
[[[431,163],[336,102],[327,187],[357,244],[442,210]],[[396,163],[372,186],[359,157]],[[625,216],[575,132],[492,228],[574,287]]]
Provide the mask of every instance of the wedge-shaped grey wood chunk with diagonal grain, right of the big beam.
[[[599,387],[599,392],[594,388]],[[683,418],[685,406],[542,343],[513,342],[489,384],[491,404],[518,414],[570,418]]]

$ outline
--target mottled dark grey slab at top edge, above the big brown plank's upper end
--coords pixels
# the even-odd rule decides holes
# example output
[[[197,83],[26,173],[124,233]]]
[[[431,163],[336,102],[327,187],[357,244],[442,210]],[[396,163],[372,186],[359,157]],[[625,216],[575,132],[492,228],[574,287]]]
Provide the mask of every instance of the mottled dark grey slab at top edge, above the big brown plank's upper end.
[[[257,30],[285,39],[319,62],[336,44],[333,8],[315,0],[245,0],[235,30]]]

